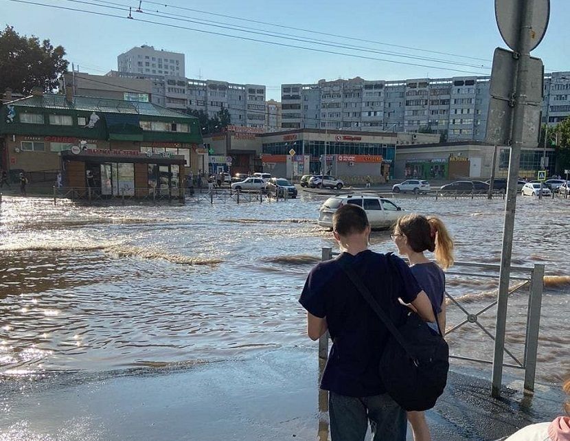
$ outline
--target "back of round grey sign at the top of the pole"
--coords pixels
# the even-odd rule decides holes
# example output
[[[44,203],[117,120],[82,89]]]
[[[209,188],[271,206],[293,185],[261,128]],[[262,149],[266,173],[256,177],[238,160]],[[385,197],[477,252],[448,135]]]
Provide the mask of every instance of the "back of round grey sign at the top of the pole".
[[[520,35],[521,14],[525,0],[495,0],[494,14],[499,32],[505,43],[514,51],[518,51],[516,42]],[[532,2],[532,30],[530,47],[532,51],[545,36],[550,16],[550,0],[534,0]]]

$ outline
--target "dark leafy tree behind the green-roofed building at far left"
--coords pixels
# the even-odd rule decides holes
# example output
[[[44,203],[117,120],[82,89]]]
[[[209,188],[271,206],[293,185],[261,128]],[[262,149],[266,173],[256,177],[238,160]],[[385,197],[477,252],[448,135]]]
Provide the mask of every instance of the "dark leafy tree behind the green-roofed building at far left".
[[[14,92],[29,94],[33,87],[53,91],[58,78],[67,72],[65,49],[54,47],[49,40],[20,36],[14,27],[0,30],[0,93],[10,87]]]

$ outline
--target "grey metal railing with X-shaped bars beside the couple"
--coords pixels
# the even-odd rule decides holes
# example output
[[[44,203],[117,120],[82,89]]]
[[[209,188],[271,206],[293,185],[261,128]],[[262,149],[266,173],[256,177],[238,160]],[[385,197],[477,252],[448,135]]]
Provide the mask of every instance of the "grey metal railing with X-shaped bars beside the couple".
[[[322,249],[322,260],[330,260],[333,256],[337,256],[339,253],[333,252],[331,248],[323,247]],[[467,271],[446,271],[446,275],[459,275],[461,277],[473,276],[477,278],[499,278],[499,264],[486,264],[486,263],[472,263],[472,262],[455,262],[455,267],[464,267]],[[469,272],[469,269],[479,269],[480,271]],[[503,348],[495,348],[492,359],[481,359],[477,357],[469,357],[468,355],[453,353],[450,358],[459,359],[463,361],[472,361],[474,363],[485,363],[493,364],[497,359],[498,354],[501,350],[512,359],[513,363],[503,363],[503,367],[513,367],[515,369],[521,369],[525,371],[525,381],[524,389],[528,392],[534,392],[534,383],[536,377],[536,354],[538,352],[538,331],[540,328],[540,309],[542,307],[542,298],[544,290],[544,275],[545,275],[545,265],[544,264],[534,264],[534,267],[511,267],[510,279],[518,282],[516,286],[513,286],[509,291],[509,296],[513,293],[521,291],[527,288],[529,291],[528,307],[527,307],[527,319],[525,322],[525,344],[523,357],[516,357],[510,348],[503,346]],[[458,329],[472,324],[477,326],[483,335],[495,340],[497,337],[493,335],[490,330],[488,330],[483,324],[481,324],[479,317],[490,310],[493,306],[497,305],[497,299],[494,299],[490,304],[480,308],[479,310],[470,310],[472,306],[463,304],[461,302],[461,297],[455,297],[449,293],[446,293],[446,297],[450,300],[452,304],[457,306],[461,313],[465,315],[465,319],[459,323],[446,328],[445,335],[449,335],[452,332],[456,332]],[[504,341],[504,339],[502,339]],[[451,350],[461,350],[461,345],[454,342],[451,346]],[[326,360],[328,358],[328,332],[319,339],[319,359]]]

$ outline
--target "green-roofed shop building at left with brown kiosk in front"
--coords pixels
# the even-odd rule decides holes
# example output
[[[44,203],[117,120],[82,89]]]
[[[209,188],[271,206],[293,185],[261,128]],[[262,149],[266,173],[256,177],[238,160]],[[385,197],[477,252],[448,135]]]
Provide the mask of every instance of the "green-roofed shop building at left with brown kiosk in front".
[[[146,102],[36,92],[0,108],[4,170],[60,172],[100,194],[176,190],[202,142],[197,118]]]

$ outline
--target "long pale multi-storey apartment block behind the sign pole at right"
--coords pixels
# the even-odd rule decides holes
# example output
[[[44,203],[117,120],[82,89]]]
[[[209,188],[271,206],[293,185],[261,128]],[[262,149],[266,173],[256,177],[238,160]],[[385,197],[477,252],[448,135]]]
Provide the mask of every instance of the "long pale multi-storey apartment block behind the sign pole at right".
[[[319,80],[282,84],[282,128],[440,133],[448,141],[483,141],[488,76],[396,81]],[[570,115],[570,72],[544,78],[543,123]]]

